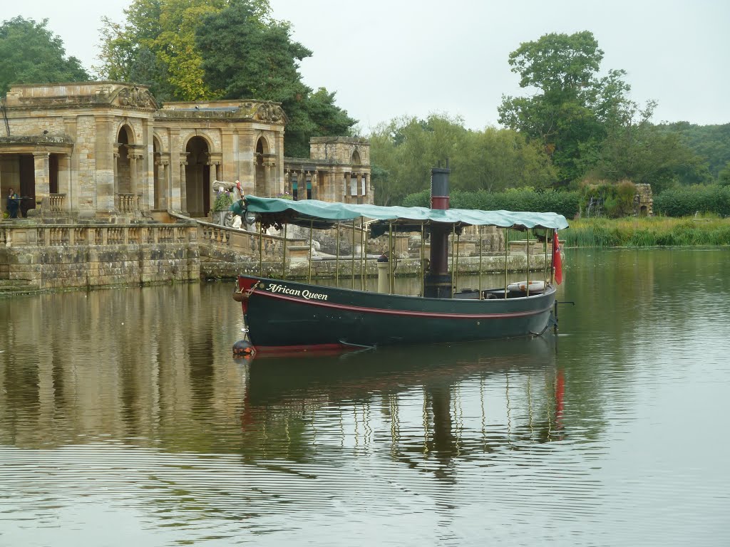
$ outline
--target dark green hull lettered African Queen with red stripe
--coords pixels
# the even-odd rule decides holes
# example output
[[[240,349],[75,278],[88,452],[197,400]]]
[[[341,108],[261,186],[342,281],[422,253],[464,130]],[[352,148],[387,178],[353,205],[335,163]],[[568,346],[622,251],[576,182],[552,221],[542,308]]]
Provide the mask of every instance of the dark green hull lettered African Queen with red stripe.
[[[537,335],[555,288],[513,298],[421,298],[239,276],[250,341],[265,349],[386,346]],[[462,295],[469,296],[469,295]],[[504,293],[502,293],[504,296]]]

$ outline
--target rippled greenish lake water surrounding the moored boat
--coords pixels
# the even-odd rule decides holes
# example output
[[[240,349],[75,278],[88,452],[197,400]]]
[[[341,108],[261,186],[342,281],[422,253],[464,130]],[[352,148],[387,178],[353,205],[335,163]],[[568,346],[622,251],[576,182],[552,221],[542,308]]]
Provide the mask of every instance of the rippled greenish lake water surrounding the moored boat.
[[[0,300],[0,546],[730,545],[730,249],[565,263],[557,338],[251,362],[228,282]]]

